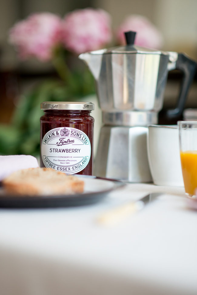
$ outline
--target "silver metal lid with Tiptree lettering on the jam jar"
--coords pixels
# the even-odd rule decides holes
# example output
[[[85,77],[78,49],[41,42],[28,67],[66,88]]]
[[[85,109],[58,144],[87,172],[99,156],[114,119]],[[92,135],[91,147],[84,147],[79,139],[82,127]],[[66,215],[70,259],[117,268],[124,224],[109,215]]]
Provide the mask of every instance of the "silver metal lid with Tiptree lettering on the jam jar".
[[[73,110],[73,111],[93,111],[92,102],[72,102],[72,101],[44,101],[40,104],[41,110]]]

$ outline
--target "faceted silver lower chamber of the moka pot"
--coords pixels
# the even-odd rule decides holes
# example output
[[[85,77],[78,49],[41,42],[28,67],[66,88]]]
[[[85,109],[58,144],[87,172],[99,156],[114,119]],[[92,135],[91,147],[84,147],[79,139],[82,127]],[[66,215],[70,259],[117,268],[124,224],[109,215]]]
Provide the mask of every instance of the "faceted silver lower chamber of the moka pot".
[[[147,156],[147,127],[104,125],[94,175],[128,182],[152,182]]]

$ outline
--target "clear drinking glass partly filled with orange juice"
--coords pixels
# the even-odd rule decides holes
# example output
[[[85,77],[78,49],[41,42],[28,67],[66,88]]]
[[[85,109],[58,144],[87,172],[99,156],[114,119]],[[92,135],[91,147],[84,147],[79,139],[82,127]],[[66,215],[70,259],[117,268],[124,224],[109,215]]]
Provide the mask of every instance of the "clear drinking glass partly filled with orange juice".
[[[197,122],[178,121],[179,145],[185,193],[197,193]]]

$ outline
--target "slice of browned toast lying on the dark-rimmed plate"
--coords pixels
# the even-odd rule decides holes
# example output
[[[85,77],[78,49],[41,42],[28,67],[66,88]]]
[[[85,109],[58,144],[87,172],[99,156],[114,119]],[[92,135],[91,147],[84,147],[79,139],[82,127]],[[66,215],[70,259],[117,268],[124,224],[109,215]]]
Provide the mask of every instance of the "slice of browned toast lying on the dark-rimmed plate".
[[[84,191],[84,181],[73,175],[51,168],[29,168],[13,172],[4,178],[2,185],[12,195],[58,195]]]

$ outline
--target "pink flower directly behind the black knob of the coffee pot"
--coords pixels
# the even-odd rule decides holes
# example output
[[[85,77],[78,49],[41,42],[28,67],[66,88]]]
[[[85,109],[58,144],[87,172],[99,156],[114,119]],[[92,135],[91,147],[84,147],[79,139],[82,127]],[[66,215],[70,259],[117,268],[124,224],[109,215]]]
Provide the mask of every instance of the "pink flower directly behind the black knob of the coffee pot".
[[[126,44],[124,32],[136,31],[135,44],[142,47],[161,48],[163,37],[159,30],[141,15],[130,15],[119,26],[116,37],[120,44]]]

